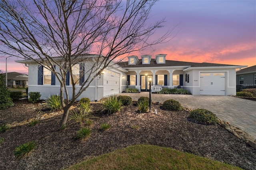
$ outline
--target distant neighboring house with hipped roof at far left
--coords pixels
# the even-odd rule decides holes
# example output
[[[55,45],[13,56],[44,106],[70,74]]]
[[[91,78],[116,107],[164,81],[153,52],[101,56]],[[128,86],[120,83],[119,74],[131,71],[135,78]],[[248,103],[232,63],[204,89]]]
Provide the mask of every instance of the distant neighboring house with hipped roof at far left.
[[[2,73],[6,75],[6,73]],[[7,73],[8,87],[28,87],[28,75],[18,72]]]

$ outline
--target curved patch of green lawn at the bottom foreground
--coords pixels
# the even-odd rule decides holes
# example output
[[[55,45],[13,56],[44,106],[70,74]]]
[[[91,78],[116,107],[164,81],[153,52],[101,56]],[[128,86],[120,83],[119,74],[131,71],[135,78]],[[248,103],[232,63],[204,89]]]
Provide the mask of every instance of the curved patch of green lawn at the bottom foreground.
[[[107,162],[107,163],[106,163]],[[135,145],[92,158],[68,168],[68,170],[98,169],[204,169],[241,170],[215,160],[180,152],[171,148],[152,145]]]

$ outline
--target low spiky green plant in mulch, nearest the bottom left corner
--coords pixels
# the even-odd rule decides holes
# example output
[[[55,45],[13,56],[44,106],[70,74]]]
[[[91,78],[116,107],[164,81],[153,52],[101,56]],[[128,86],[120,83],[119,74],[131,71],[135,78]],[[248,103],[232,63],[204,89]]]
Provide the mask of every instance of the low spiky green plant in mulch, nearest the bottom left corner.
[[[28,156],[35,147],[36,144],[33,141],[21,144],[14,149],[14,156],[19,159],[24,158],[25,156]]]

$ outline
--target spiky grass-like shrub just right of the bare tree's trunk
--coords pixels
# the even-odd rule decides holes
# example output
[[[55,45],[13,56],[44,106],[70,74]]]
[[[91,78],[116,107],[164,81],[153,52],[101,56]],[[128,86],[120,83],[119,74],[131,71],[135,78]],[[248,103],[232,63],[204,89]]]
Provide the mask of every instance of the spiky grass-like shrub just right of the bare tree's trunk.
[[[74,121],[76,123],[79,123],[82,127],[84,126],[90,126],[92,125],[92,121],[90,121],[90,118],[92,117],[92,106],[90,103],[82,102],[79,103],[78,109],[72,110],[70,114],[71,121]]]

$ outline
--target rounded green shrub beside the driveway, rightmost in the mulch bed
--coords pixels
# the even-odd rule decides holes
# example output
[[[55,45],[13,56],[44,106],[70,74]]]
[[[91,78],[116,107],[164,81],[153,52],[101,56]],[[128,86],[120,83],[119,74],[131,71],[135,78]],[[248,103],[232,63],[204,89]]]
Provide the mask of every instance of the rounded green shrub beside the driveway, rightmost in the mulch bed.
[[[205,123],[207,125],[216,125],[217,123],[216,115],[206,109],[195,109],[190,112],[189,117],[199,123]]]

